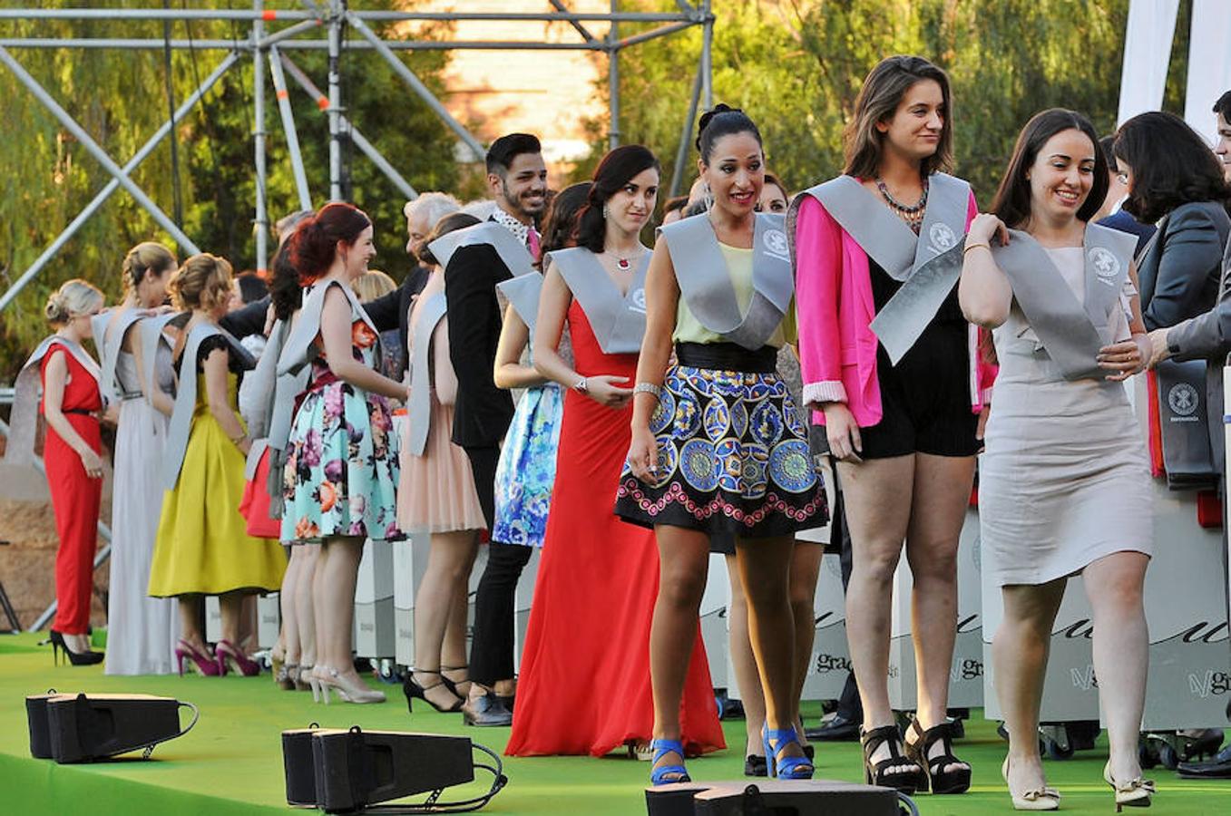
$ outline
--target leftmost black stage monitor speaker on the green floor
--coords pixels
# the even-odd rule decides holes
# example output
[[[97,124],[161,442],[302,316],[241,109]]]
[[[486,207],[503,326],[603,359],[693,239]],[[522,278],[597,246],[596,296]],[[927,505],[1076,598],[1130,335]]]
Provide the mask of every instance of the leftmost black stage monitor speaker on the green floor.
[[[180,729],[180,708],[192,722]],[[59,763],[94,762],[187,734],[199,716],[192,703],[148,694],[37,694],[26,698],[30,752]]]

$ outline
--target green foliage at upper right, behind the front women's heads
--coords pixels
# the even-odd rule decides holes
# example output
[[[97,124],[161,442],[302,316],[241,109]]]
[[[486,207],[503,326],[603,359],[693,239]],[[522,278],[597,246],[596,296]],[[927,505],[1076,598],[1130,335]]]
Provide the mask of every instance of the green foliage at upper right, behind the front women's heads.
[[[639,5],[676,7],[671,0]],[[752,116],[769,167],[801,190],[841,172],[842,130],[867,73],[886,55],[921,54],[949,71],[953,170],[987,203],[1019,129],[1038,111],[1082,111],[1101,133],[1115,126],[1128,7],[1129,0],[723,0],[713,4],[714,101]],[[1187,31],[1181,20],[1176,55],[1187,53]],[[694,30],[620,55],[620,130],[659,154],[665,185],[699,49]],[[1168,110],[1182,105],[1179,62],[1172,62]],[[689,148],[683,191],[696,161]]]

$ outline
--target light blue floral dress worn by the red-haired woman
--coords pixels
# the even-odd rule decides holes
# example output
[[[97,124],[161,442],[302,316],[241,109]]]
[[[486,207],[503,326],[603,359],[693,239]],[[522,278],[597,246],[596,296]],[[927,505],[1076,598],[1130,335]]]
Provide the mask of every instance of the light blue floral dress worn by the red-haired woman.
[[[369,368],[380,366],[377,335],[358,315],[351,324],[351,352]],[[323,350],[291,426],[283,479],[284,542],[400,535],[398,437],[389,402],[334,377]]]

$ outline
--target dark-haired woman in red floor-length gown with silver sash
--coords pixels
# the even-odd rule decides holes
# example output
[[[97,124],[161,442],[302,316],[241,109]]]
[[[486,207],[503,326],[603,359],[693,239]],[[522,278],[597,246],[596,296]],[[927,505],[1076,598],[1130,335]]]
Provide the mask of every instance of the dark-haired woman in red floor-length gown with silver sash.
[[[522,655],[510,756],[604,753],[649,743],[650,619],[659,590],[654,532],[612,512],[628,452],[632,389],[645,330],[649,250],[638,238],[659,164],[617,148],[595,171],[579,246],[549,256],[534,363],[569,391],[555,489]],[[575,362],[556,353],[565,322]],[[691,754],[726,747],[697,629],[681,720]]]

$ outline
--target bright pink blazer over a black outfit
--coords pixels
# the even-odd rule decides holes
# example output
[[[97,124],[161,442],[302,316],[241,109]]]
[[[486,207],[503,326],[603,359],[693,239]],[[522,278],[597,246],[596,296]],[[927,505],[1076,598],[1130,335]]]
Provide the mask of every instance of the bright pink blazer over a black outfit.
[[[974,194],[966,226],[979,213]],[[795,298],[799,310],[799,363],[804,404],[812,421],[825,425],[822,402],[846,402],[859,427],[880,422],[880,384],[872,319],[868,255],[812,196],[800,202],[795,222]],[[970,326],[970,406],[982,410],[996,367],[979,354],[979,330]]]

